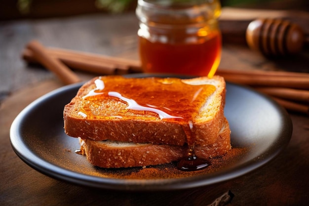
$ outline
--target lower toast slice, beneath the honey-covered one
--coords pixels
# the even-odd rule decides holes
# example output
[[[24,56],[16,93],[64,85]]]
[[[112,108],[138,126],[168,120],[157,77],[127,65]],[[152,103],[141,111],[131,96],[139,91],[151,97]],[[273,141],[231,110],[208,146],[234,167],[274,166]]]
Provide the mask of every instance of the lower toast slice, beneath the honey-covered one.
[[[195,155],[209,159],[225,155],[231,149],[230,127],[227,120],[213,144],[197,145]],[[132,143],[117,141],[94,141],[80,139],[81,150],[92,164],[104,168],[160,165],[179,161],[188,155],[188,146],[167,144]]]

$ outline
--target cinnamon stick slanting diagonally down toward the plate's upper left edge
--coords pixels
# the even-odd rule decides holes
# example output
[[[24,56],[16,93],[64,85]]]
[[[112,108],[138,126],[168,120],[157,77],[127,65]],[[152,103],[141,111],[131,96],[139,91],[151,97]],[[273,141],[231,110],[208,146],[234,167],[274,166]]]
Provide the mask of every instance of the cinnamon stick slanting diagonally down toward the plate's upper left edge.
[[[57,58],[49,56],[46,48],[39,41],[31,41],[27,44],[27,48],[32,52],[33,57],[52,71],[65,84],[80,82],[80,79],[66,65]]]

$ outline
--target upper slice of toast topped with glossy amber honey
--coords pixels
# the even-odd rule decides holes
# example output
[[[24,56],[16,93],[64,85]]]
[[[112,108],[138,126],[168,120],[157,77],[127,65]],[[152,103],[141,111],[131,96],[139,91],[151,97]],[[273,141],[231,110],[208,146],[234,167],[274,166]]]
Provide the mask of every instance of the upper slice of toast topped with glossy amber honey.
[[[98,83],[99,82],[99,83]],[[161,97],[162,101],[175,101],[175,105],[182,104],[183,99],[179,96],[172,96],[173,93],[179,95],[190,94],[194,97],[195,87],[213,88],[211,92],[201,96],[202,102],[195,108],[195,114],[190,125],[194,144],[206,147],[214,144],[218,138],[218,133],[223,127],[224,105],[226,83],[220,76],[212,79],[199,77],[193,79],[180,80],[176,78],[124,78],[120,76],[97,77],[82,85],[77,95],[64,108],[64,128],[65,132],[72,137],[89,139],[94,141],[112,140],[119,142],[153,143],[183,146],[188,143],[188,131],[186,126],[177,121],[161,119],[159,115],[152,112],[134,112],[127,109],[128,104],[114,96],[113,98],[99,98],[103,95],[104,89],[108,86],[117,89],[117,85],[122,82],[131,82],[126,87],[129,90],[140,91],[141,95],[157,93],[155,86],[151,83],[174,85],[174,90],[164,87],[164,92],[170,92]],[[138,86],[135,86],[137,84]],[[145,85],[146,92],[143,92]],[[178,88],[182,86],[184,88]],[[131,88],[132,87],[132,88]],[[140,88],[143,87],[143,88]],[[152,87],[154,89],[152,90]],[[194,87],[193,90],[191,87]],[[190,91],[190,92],[189,92]],[[198,90],[199,91],[199,90]],[[208,95],[207,95],[208,94]],[[140,94],[138,94],[140,95]],[[138,98],[139,96],[136,96]],[[203,96],[204,95],[204,96]],[[134,97],[135,98],[135,97]],[[133,99],[134,99],[133,98]],[[195,98],[195,97],[194,97]],[[152,105],[153,96],[148,96],[148,103]],[[178,101],[178,102],[177,102]],[[185,100],[184,100],[185,101]],[[147,103],[147,102],[146,102]],[[85,106],[86,105],[86,106]],[[183,106],[179,113],[186,110]],[[160,107],[163,108],[163,107]],[[169,113],[169,110],[166,110]],[[120,114],[120,115],[119,115]],[[178,114],[178,113],[177,113]],[[187,132],[187,133],[186,133]]]

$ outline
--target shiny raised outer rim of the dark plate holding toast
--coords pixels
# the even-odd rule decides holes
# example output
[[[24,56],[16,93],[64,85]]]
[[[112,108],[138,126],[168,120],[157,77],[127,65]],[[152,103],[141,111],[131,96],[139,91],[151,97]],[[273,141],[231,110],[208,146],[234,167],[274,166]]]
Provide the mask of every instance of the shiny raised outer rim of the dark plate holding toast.
[[[153,77],[154,75],[126,75],[126,77]],[[166,76],[166,75],[164,75]],[[161,77],[161,76],[160,76]],[[175,77],[175,75],[168,76],[168,77]],[[177,77],[185,77],[185,78],[191,78],[188,76],[177,76]],[[57,88],[53,91],[50,91],[32,103],[30,103],[28,106],[26,106],[14,119],[13,123],[10,127],[10,143],[11,147],[13,148],[14,152],[17,154],[17,156],[24,161],[27,165],[31,166],[32,168],[38,170],[39,172],[50,176],[52,178],[69,182],[69,183],[75,183],[77,185],[84,185],[84,186],[90,186],[95,188],[102,188],[102,189],[116,189],[116,190],[131,190],[131,191],[145,191],[145,190],[151,190],[151,191],[158,191],[158,190],[176,190],[176,189],[185,189],[185,188],[193,188],[193,187],[200,187],[200,186],[206,186],[211,185],[214,183],[223,182],[226,180],[230,180],[239,176],[242,176],[250,171],[256,170],[260,168],[263,165],[266,165],[270,160],[273,160],[278,154],[281,153],[283,149],[288,145],[292,131],[293,131],[293,125],[292,121],[286,112],[285,109],[283,109],[279,104],[277,104],[275,101],[270,99],[267,95],[264,95],[258,91],[253,90],[250,87],[243,86],[240,84],[227,82],[230,86],[236,86],[240,87],[241,89],[250,90],[250,92],[254,92],[261,97],[267,99],[270,103],[272,103],[276,110],[281,114],[281,117],[283,117],[284,124],[288,125],[285,126],[285,132],[287,132],[287,136],[284,140],[283,146],[280,146],[276,152],[271,153],[267,155],[266,157],[263,157],[258,162],[255,162],[255,164],[252,164],[250,162],[247,162],[246,164],[238,165],[237,167],[233,167],[232,171],[224,172],[223,170],[221,172],[216,172],[214,174],[207,173],[207,178],[203,178],[205,175],[198,175],[198,176],[190,176],[190,177],[182,177],[182,178],[169,178],[169,179],[147,179],[147,183],[141,181],[141,179],[120,179],[120,178],[104,178],[104,177],[98,177],[93,176],[89,174],[79,173],[76,171],[68,170],[65,168],[61,168],[57,165],[53,165],[47,161],[44,161],[42,158],[40,158],[38,155],[33,154],[31,149],[28,148],[26,145],[23,145],[23,137],[18,134],[19,126],[24,118],[25,115],[27,115],[37,104],[41,103],[42,101],[46,101],[46,99],[52,98],[55,95],[59,95],[61,92],[68,92],[71,89],[78,89],[84,82],[79,82],[75,84],[70,84],[66,86],[62,86],[60,88]],[[18,142],[18,140],[21,140],[21,142]],[[24,149],[24,154],[21,150],[21,148]],[[25,150],[26,149],[26,150]],[[257,157],[256,157],[257,158]],[[55,172],[57,171],[57,172]],[[215,178],[214,178],[215,177]],[[180,182],[180,183],[179,183]]]

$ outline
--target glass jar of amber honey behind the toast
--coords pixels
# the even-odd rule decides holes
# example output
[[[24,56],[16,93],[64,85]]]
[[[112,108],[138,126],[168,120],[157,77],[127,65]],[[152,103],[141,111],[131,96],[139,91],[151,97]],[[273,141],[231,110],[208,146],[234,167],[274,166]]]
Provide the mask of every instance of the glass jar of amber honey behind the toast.
[[[221,59],[220,13],[219,0],[138,0],[143,71],[213,77]]]

